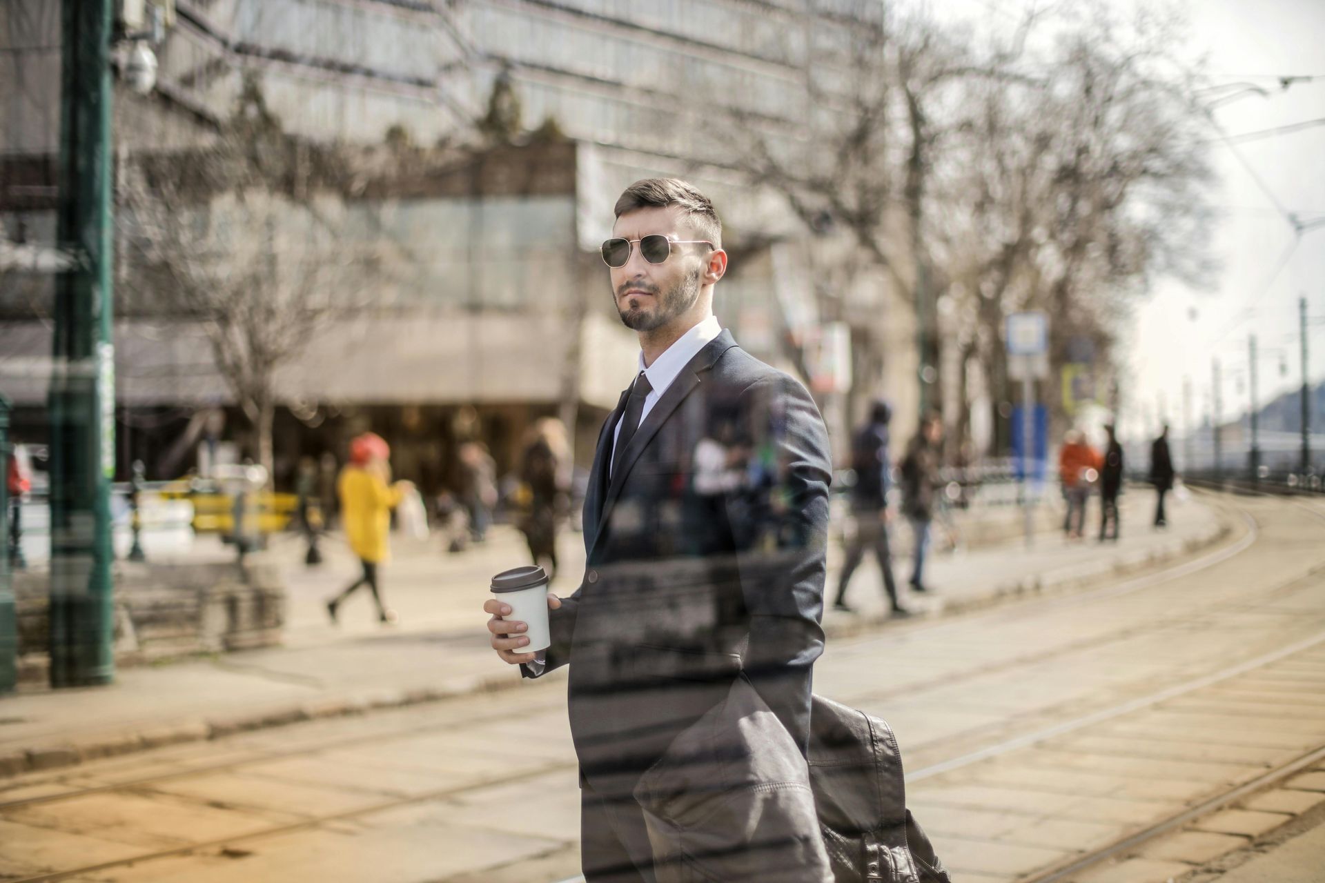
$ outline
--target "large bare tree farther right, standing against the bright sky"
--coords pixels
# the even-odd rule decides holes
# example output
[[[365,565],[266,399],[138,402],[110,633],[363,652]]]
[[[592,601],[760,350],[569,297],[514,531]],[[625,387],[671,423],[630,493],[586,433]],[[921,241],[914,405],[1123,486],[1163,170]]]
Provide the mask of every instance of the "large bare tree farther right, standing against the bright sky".
[[[966,83],[943,183],[943,265],[965,367],[998,404],[1007,312],[1052,316],[1051,363],[1073,340],[1108,364],[1120,320],[1159,274],[1202,282],[1210,169],[1181,21],[1069,21],[1035,61],[1053,75]],[[969,400],[967,400],[969,401]]]

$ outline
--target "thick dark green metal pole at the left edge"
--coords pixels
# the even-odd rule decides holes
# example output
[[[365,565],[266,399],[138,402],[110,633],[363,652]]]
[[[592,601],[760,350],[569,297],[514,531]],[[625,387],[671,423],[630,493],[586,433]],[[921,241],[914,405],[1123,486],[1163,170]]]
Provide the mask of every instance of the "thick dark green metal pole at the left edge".
[[[60,246],[50,383],[50,684],[110,683],[114,471],[111,81],[114,0],[65,0]]]

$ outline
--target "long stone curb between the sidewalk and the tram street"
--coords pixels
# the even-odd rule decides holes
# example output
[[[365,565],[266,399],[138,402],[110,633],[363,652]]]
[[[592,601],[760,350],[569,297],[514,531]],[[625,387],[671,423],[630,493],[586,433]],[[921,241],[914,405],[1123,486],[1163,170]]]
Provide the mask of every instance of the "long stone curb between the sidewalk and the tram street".
[[[1208,548],[1226,539],[1232,532],[1230,522],[1220,519],[1218,528],[1204,536],[1174,543],[1162,552],[1150,552],[1145,557],[1138,557],[1130,563],[1116,563],[1106,568],[1096,568],[1094,572],[1081,575],[1067,568],[1051,571],[1047,575],[1037,575],[1030,581],[1006,582],[994,586],[990,592],[965,600],[941,600],[939,605],[920,617],[908,620],[893,620],[888,617],[861,618],[845,624],[825,625],[824,634],[831,638],[860,637],[869,631],[877,631],[885,626],[914,624],[917,620],[937,620],[945,616],[969,613],[987,609],[1032,597],[1060,594],[1069,590],[1084,590],[1104,581],[1121,576],[1130,576],[1141,571],[1162,565],[1173,559],[1191,555]],[[1055,573],[1063,573],[1055,577]],[[1049,577],[1049,579],[1045,579]],[[224,739],[241,732],[257,729],[270,729],[309,720],[326,720],[331,718],[348,718],[364,715],[371,711],[405,708],[431,702],[444,702],[460,699],[482,692],[504,692],[517,690],[522,684],[521,678],[507,675],[493,675],[480,678],[468,684],[450,688],[399,688],[399,690],[372,690],[348,696],[325,696],[311,699],[294,706],[282,706],[265,711],[242,712],[233,715],[219,715],[215,718],[191,718],[171,724],[152,725],[140,731],[127,733],[113,733],[86,741],[65,741],[36,748],[12,751],[0,755],[0,780],[13,778],[25,773],[48,772],[77,767],[80,764],[117,757],[154,748],[168,745],[182,745],[187,743],[208,741]]]

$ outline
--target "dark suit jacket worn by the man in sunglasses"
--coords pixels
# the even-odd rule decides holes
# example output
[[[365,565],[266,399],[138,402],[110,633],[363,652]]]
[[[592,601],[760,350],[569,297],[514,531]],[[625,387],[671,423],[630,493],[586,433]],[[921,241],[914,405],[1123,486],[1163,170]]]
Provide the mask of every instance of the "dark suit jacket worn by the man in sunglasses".
[[[553,612],[546,653],[546,671],[571,666],[582,781],[628,796],[742,670],[806,753],[832,478],[814,400],[723,331],[662,393],[608,483],[625,400],[599,433],[586,573]],[[705,437],[742,453],[741,487],[696,492]]]

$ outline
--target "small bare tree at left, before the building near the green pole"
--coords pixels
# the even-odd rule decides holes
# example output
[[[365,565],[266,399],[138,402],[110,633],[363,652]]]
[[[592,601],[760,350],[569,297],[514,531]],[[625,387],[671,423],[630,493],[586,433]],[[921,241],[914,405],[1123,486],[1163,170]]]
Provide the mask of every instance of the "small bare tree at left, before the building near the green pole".
[[[197,322],[272,474],[277,372],[359,307],[331,184],[341,160],[286,136],[254,82],[200,151],[135,156],[119,180],[121,225],[142,283],[138,310]]]

